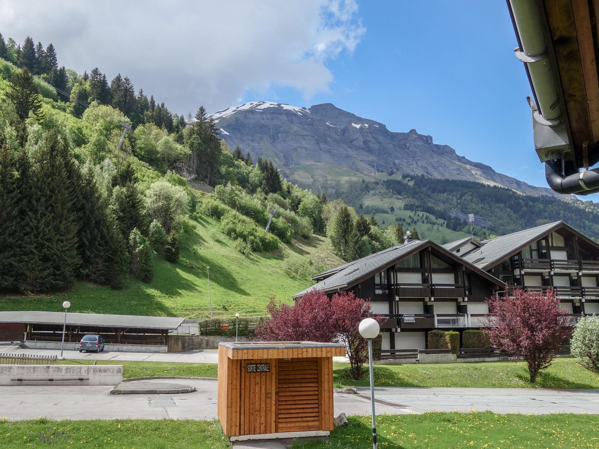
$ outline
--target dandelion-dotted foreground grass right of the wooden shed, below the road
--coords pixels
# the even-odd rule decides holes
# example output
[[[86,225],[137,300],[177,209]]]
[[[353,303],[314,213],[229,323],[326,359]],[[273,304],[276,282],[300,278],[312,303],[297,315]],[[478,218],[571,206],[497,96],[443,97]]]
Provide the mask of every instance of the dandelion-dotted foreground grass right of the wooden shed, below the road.
[[[349,427],[331,432],[326,443],[295,444],[293,449],[371,448],[370,416],[347,418]],[[497,415],[492,412],[379,415],[379,447],[574,448],[599,447],[599,415]]]

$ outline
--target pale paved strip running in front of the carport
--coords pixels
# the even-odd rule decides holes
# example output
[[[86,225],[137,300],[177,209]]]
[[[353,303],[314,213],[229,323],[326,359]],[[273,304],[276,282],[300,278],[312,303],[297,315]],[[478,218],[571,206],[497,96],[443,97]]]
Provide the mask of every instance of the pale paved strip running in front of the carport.
[[[19,347],[3,348],[0,352],[17,354],[37,354],[44,356],[59,356],[57,349],[21,349]],[[219,353],[216,350],[183,351],[180,353],[126,353],[120,351],[104,351],[102,353],[80,353],[79,351],[63,351],[65,359],[88,360],[132,360],[138,362],[186,362],[186,363],[217,363]]]

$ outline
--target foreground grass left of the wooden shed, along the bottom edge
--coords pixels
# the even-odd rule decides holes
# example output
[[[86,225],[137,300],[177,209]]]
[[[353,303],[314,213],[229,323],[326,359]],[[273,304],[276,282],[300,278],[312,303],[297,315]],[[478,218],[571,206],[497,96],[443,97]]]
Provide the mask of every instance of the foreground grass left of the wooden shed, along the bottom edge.
[[[89,418],[93,417],[90,412]],[[69,449],[225,449],[231,447],[220,422],[194,420],[0,420],[0,447]]]

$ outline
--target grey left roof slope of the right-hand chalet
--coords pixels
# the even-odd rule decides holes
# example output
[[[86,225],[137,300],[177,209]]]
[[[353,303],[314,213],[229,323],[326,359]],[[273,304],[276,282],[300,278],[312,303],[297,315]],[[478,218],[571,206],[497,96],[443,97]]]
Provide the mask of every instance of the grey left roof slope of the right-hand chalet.
[[[508,256],[516,249],[539,239],[541,235],[546,234],[553,228],[564,224],[564,222],[554,222],[502,235],[489,240],[483,240],[480,242],[480,248],[476,248],[469,253],[464,254],[462,259],[484,269],[492,263],[504,259],[504,257]]]

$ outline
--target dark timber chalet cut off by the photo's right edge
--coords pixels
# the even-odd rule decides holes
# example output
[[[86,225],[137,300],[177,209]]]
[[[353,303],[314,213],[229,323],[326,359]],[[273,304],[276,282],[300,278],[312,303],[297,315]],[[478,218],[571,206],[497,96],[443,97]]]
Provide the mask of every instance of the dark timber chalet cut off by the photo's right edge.
[[[561,306],[574,317],[599,314],[599,244],[564,222],[484,241],[465,238],[443,247],[510,289],[555,288]]]

